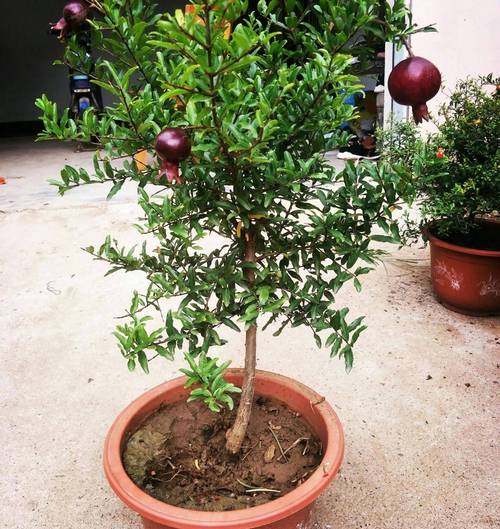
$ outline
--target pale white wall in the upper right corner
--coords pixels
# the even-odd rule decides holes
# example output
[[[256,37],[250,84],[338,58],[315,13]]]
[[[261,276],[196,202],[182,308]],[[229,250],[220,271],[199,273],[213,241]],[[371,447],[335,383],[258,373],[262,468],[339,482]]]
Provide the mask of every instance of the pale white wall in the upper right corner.
[[[413,0],[415,22],[436,23],[438,33],[412,38],[416,55],[432,61],[443,76],[443,90],[429,108],[436,112],[459,79],[500,75],[500,0]]]

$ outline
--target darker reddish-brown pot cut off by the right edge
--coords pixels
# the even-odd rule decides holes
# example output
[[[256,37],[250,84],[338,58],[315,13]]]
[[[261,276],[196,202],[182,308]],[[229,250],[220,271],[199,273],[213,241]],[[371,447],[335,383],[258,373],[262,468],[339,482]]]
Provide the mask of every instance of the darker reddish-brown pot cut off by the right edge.
[[[431,248],[432,285],[441,303],[463,314],[500,314],[500,251],[442,241],[432,234],[432,227],[426,236]]]

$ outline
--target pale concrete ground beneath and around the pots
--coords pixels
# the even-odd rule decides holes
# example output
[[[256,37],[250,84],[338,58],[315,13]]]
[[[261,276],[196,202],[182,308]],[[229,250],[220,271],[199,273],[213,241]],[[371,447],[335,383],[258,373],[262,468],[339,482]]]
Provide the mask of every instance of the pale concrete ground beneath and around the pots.
[[[80,247],[134,240],[134,190],[107,203],[103,187],[61,199],[46,184],[63,163],[89,161],[69,144],[0,140],[2,529],[139,528],[103,478],[103,438],[181,366],[130,374],[115,346],[114,317],[142,278],[104,278]],[[314,527],[498,528],[500,321],[447,311],[427,251],[391,251],[361,294],[340,296],[369,324],[351,374],[303,330],[260,338],[260,367],[316,387],[345,427],[345,463]],[[242,352],[231,335],[221,354],[240,365]]]

